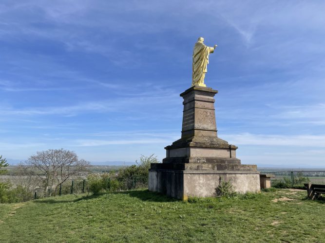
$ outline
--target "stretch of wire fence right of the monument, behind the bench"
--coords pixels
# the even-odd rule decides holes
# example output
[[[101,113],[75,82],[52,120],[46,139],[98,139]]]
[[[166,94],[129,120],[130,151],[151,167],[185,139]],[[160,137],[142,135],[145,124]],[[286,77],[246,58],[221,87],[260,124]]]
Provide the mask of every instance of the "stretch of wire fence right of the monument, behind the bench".
[[[325,171],[262,171],[261,174],[274,174],[272,187],[281,183],[287,187],[303,187],[308,182],[325,185]]]

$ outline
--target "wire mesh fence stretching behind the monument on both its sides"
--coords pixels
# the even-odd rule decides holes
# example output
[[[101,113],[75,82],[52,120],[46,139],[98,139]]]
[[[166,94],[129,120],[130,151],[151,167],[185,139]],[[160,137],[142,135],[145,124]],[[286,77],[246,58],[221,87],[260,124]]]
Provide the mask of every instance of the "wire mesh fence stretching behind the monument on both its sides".
[[[271,186],[277,188],[303,188],[304,183],[325,185],[325,171],[262,171],[261,174],[273,174]],[[80,177],[66,180],[52,186],[44,186],[37,177],[14,176],[2,179],[7,183],[9,192],[7,202],[21,202],[42,197],[64,194],[95,193],[100,191],[127,191],[148,188],[148,176],[102,176],[96,180]]]

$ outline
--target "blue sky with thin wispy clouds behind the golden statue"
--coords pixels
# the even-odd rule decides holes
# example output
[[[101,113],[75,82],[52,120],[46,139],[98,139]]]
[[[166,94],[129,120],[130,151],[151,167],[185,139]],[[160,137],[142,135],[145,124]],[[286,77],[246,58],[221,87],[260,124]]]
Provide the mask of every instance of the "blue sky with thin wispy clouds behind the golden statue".
[[[165,156],[199,36],[242,163],[325,167],[324,1],[0,1],[0,154]]]

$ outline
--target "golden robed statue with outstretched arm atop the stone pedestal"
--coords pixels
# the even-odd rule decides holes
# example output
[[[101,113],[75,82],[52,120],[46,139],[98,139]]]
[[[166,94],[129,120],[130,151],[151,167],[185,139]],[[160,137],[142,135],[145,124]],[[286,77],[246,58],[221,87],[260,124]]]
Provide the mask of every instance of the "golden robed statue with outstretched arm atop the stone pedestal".
[[[203,44],[204,38],[200,37],[194,45],[193,63],[192,63],[192,86],[198,85],[207,87],[204,84],[204,77],[207,73],[207,65],[209,63],[209,54],[214,52],[214,47],[208,47]]]

